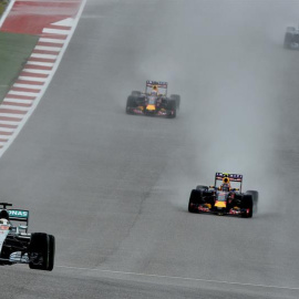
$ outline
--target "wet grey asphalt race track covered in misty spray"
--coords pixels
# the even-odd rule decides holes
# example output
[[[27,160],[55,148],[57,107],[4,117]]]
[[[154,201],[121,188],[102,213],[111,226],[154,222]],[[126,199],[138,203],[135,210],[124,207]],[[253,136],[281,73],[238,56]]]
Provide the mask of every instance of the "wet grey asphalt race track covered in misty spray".
[[[1,298],[299,298],[296,1],[86,3],[44,99],[0,161],[2,200],[56,237],[53,272],[0,268]],[[124,113],[147,79],[176,120]],[[252,219],[187,213],[216,171]]]

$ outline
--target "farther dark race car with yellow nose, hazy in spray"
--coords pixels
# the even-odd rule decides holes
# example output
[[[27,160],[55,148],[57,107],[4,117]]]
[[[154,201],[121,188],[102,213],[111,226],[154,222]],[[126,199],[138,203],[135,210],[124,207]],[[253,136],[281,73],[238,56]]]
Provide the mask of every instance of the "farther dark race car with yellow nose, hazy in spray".
[[[126,100],[127,114],[176,117],[181,96],[167,97],[167,82],[146,81],[145,92],[133,91]]]

